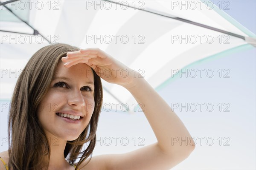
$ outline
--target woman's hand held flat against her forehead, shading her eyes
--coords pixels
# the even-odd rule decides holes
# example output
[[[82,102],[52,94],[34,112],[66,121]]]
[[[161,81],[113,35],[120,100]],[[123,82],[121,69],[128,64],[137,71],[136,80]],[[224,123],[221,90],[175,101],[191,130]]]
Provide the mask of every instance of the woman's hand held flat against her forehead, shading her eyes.
[[[129,89],[135,85],[135,77],[139,73],[132,71],[118,60],[99,48],[87,48],[79,51],[68,52],[67,57],[61,59],[65,62],[64,67],[69,68],[78,63],[85,63],[107,82],[122,85]]]

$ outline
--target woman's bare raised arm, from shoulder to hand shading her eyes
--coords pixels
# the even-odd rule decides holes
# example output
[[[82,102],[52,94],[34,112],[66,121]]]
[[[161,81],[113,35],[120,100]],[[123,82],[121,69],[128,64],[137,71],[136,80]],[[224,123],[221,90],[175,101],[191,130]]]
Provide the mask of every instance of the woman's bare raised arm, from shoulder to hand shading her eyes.
[[[99,48],[87,48],[67,54],[62,58],[65,67],[85,63],[110,83],[122,85],[143,103],[143,112],[157,138],[157,143],[124,154],[98,156],[106,169],[170,169],[186,159],[195,148],[195,142],[172,108],[157,94],[144,78],[120,76],[122,69],[132,71]],[[105,76],[104,70],[112,72]],[[139,75],[139,73],[137,72]]]

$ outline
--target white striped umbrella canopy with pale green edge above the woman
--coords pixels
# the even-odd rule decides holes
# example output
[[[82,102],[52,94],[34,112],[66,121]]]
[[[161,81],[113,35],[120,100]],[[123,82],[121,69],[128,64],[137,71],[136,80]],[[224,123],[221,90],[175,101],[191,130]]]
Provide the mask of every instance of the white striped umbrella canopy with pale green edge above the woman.
[[[35,0],[5,6],[52,43],[101,48],[143,74],[153,88],[201,59],[242,45],[255,46],[255,34],[206,0]],[[33,29],[6,7],[0,11],[1,100],[11,98],[32,54],[49,44],[40,35],[28,35]],[[118,110],[134,110],[136,101],[125,88],[102,82],[105,109],[115,110],[114,103],[120,103]]]

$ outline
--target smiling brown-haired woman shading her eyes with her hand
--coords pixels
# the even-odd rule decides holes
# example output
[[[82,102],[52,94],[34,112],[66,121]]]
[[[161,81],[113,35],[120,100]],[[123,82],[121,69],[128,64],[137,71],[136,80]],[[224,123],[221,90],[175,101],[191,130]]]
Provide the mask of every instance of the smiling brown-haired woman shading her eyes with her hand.
[[[112,71],[111,77],[102,74],[105,69]],[[131,74],[122,77],[122,69]],[[186,159],[195,148],[188,130],[136,74],[98,48],[55,44],[38,50],[15,86],[9,115],[9,150],[0,153],[0,169],[170,169]],[[100,78],[123,86],[144,104],[143,112],[156,143],[129,153],[89,158],[96,144],[102,107]],[[183,142],[173,142],[174,138]],[[81,150],[86,142],[89,146]]]

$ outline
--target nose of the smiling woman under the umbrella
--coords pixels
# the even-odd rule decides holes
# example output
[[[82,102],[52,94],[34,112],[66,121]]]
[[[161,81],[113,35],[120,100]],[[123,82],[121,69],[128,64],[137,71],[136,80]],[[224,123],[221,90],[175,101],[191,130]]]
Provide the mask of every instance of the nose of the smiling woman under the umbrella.
[[[83,107],[85,105],[84,97],[81,94],[80,89],[70,91],[68,96],[68,104]]]

